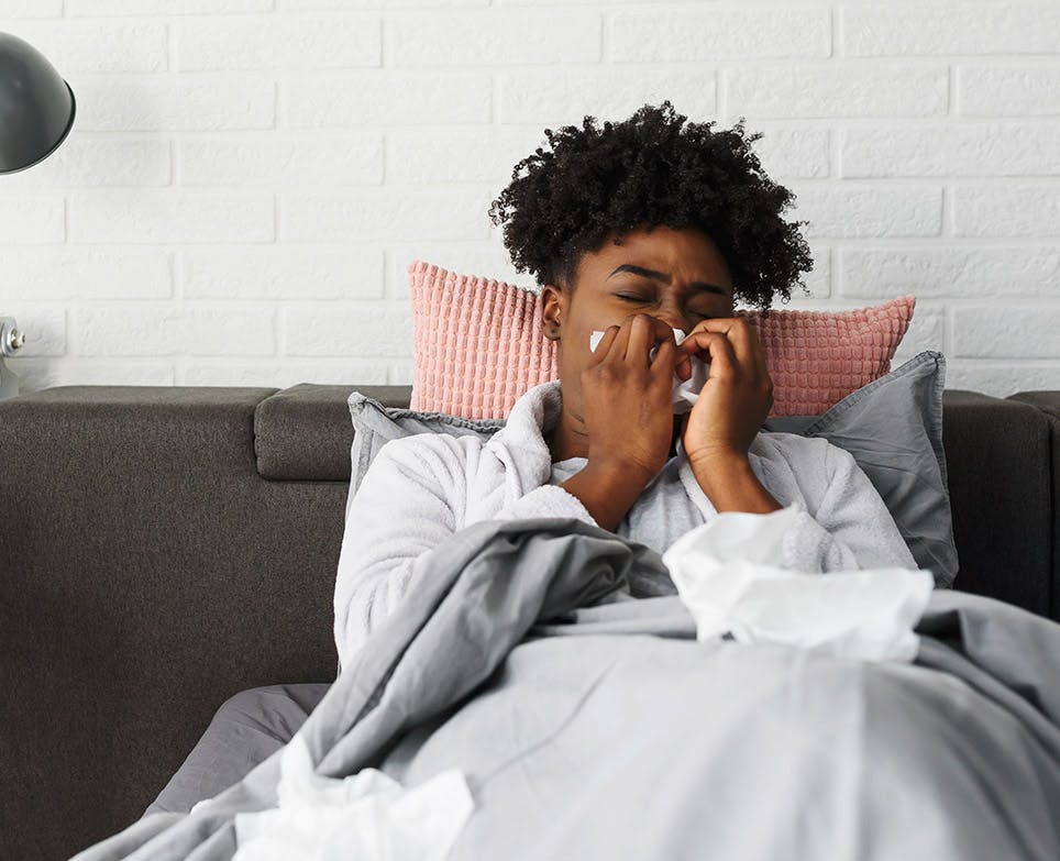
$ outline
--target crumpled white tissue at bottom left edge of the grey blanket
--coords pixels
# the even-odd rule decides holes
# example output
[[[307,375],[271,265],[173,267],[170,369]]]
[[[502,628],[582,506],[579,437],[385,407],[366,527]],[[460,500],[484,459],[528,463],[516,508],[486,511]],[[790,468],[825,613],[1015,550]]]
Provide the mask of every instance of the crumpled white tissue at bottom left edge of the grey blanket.
[[[441,861],[474,808],[455,769],[410,790],[376,769],[320,776],[300,735],[280,754],[277,795],[276,809],[236,814],[232,861]]]

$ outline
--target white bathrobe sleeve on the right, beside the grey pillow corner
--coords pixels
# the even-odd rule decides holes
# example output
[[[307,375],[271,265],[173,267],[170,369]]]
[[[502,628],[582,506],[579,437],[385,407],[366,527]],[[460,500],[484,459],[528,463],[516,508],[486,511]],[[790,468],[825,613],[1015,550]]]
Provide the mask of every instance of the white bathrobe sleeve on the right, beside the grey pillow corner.
[[[782,456],[759,478],[798,517],[784,536],[782,556],[774,561],[777,567],[807,573],[918,567],[886,505],[850,452],[827,440],[794,435],[779,451]],[[771,474],[777,474],[772,468],[781,463],[790,472],[771,486]],[[687,462],[682,479],[704,517],[716,517]]]

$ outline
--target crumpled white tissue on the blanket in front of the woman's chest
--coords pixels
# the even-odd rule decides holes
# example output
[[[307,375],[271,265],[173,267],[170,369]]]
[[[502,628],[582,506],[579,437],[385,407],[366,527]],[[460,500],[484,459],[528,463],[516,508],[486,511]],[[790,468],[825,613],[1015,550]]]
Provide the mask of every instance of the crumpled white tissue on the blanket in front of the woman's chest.
[[[931,595],[928,569],[803,573],[776,567],[798,510],[725,511],[663,554],[698,640],[776,642],[865,661],[912,661],[913,626]]]

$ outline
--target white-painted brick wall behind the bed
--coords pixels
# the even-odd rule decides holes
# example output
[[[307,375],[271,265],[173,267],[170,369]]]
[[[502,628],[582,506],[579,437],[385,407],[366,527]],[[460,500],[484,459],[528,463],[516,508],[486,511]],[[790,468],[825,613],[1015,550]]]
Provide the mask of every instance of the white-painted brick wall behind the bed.
[[[489,201],[545,126],[747,118],[813,298],[918,297],[898,353],[1060,388],[1060,2],[0,0],[74,132],[0,177],[32,391],[407,383],[416,257],[530,285]]]

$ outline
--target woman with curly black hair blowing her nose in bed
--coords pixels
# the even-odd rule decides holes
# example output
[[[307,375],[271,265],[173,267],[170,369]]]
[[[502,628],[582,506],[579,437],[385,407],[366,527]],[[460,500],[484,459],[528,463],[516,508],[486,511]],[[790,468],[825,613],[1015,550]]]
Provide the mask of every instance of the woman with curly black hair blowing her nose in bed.
[[[733,302],[768,311],[811,264],[780,218],[791,192],[750,151],[761,135],[685,121],[669,101],[603,128],[586,117],[516,165],[490,216],[542,287],[560,379],[523,395],[487,442],[424,434],[379,452],[346,511],[340,662],[394,611],[417,558],[487,519],[575,517],[663,552],[716,512],[795,506],[777,564],[917,567],[848,452],[759,432],[772,383]],[[687,379],[694,357],[709,378],[677,418],[674,374]]]

